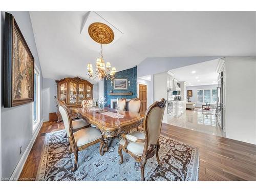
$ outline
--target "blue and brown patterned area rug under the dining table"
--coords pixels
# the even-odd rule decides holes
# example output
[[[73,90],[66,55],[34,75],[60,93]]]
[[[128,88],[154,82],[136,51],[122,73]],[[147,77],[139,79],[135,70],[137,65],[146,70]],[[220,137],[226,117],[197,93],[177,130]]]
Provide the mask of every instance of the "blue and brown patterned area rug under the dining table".
[[[111,140],[108,152],[99,154],[99,143],[78,153],[78,169],[71,172],[74,155],[68,154],[65,130],[48,133],[44,153],[37,173],[37,181],[140,181],[140,165],[123,152],[123,163],[117,149],[119,138]],[[177,140],[160,136],[159,158],[148,159],[145,165],[146,181],[197,181],[199,149]]]

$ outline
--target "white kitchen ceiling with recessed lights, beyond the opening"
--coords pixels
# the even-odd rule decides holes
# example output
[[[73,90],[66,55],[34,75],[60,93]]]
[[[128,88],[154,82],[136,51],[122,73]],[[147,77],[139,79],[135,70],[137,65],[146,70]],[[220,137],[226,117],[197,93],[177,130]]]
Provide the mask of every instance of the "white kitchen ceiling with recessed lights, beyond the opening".
[[[216,72],[220,59],[200,62],[195,65],[185,66],[170,70],[178,81],[186,81],[187,86],[204,86],[217,84],[218,73]]]

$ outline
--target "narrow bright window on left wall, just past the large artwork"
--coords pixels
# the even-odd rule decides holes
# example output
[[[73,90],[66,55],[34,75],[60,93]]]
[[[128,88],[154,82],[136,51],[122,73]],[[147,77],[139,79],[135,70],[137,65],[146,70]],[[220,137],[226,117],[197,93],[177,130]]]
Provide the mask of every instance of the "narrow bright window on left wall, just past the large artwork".
[[[40,119],[40,83],[39,83],[39,72],[35,69],[34,71],[34,102],[33,102],[33,130],[39,124]]]

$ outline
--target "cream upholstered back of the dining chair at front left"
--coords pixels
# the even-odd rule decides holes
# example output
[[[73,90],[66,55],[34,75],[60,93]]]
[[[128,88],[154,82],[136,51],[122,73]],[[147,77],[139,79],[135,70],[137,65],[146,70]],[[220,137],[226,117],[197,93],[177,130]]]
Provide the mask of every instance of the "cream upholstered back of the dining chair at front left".
[[[62,120],[63,120],[63,123],[64,123],[64,126],[65,126],[65,130],[67,132],[67,135],[69,137],[71,137],[71,129],[72,129],[72,119],[69,115],[69,112],[68,112],[68,109],[67,109],[67,106],[65,104],[63,104],[62,101],[58,100],[57,99],[57,103],[58,103],[58,106],[59,106],[59,113],[62,117]]]

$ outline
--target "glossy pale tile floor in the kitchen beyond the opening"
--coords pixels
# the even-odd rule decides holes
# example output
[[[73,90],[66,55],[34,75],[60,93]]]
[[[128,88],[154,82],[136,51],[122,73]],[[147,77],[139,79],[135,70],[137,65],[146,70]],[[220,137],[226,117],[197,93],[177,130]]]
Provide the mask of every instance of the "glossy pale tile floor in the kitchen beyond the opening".
[[[186,110],[180,117],[168,119],[168,124],[211,135],[226,136],[225,132],[218,126],[215,112],[201,110],[200,108],[193,111]]]

